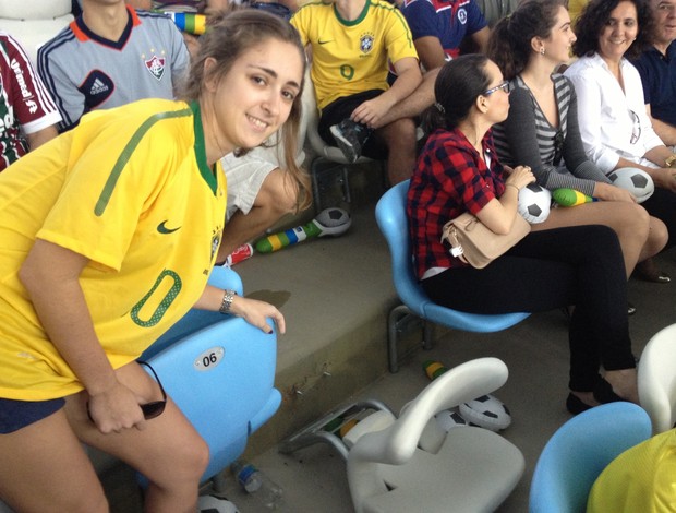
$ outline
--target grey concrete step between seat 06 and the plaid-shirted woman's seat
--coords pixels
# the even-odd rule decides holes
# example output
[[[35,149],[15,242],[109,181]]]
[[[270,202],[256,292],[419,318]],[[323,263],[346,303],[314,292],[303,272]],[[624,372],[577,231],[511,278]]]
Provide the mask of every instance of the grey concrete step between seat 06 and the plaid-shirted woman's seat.
[[[246,296],[278,306],[279,411],[249,442],[265,451],[373,383],[387,371],[387,313],[398,303],[375,201],[352,205],[352,226],[336,238],[255,254],[234,270]]]

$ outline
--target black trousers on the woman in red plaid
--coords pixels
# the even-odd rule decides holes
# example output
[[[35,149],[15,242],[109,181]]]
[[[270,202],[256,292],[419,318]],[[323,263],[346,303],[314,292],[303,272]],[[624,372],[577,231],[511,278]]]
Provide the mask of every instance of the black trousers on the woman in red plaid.
[[[529,234],[484,269],[455,267],[422,281],[430,298],[473,313],[542,312],[575,305],[570,390],[590,392],[599,369],[636,367],[621,247],[606,226]]]

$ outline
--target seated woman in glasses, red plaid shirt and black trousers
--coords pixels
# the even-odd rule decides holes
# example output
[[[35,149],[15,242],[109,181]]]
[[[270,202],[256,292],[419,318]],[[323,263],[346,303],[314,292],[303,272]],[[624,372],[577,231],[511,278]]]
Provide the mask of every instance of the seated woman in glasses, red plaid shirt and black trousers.
[[[474,313],[547,311],[575,305],[570,319],[568,410],[638,403],[627,319],[627,279],[615,232],[600,225],[533,230],[485,269],[451,256],[445,223],[470,212],[496,234],[510,230],[530,168],[504,167],[491,127],[507,117],[509,84],[481,55],[459,57],[436,80],[426,112],[431,134],[408,193],[419,278],[430,298]],[[605,369],[601,377],[600,368]]]

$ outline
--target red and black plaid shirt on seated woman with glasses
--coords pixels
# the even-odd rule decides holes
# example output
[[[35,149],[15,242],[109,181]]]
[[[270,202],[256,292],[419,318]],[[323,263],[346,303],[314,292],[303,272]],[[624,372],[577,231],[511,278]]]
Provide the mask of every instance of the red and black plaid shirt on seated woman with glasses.
[[[407,213],[418,276],[432,267],[468,265],[440,242],[444,225],[463,212],[474,215],[505,192],[503,165],[488,131],[482,147],[491,169],[459,130],[437,130],[427,140],[408,192]]]

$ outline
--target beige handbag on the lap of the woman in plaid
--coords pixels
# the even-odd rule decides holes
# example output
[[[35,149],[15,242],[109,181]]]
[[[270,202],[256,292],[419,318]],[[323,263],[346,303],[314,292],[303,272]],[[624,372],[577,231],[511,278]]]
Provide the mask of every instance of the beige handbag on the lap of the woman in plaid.
[[[517,214],[509,234],[492,231],[475,216],[466,212],[444,225],[442,242],[448,241],[450,254],[472,267],[483,269],[526,237],[531,225]]]

